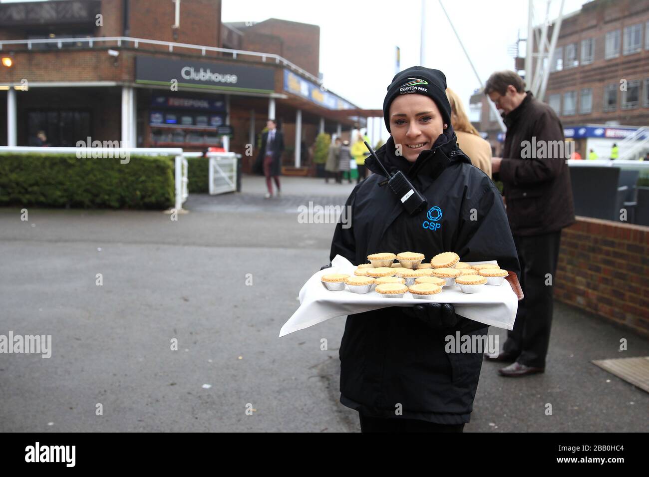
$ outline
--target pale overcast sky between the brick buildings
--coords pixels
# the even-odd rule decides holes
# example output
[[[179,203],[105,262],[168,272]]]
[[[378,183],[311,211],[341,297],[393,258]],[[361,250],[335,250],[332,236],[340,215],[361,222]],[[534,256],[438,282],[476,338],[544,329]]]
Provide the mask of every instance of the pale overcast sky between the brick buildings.
[[[480,87],[438,0],[426,1],[425,61],[441,69],[448,87],[468,105]],[[585,0],[565,0],[564,13],[579,10]],[[559,0],[551,3],[555,16]],[[467,53],[484,82],[493,71],[513,69],[508,46],[518,32],[525,38],[525,0],[443,0]],[[535,18],[545,17],[544,0],[535,0]],[[395,75],[395,47],[401,69],[419,65],[421,0],[223,0],[222,21],[281,18],[320,27],[320,71],[324,86],[361,108],[380,109]],[[554,18],[554,16],[552,16]],[[520,43],[524,49],[525,43]],[[522,52],[524,56],[524,51]],[[384,130],[384,137],[387,130]]]

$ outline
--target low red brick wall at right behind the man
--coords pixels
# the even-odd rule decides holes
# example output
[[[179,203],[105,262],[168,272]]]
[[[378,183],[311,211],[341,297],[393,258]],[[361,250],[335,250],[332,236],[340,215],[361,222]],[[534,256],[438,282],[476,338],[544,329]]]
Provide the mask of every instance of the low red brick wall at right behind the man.
[[[554,296],[649,336],[649,227],[577,217],[561,234]]]

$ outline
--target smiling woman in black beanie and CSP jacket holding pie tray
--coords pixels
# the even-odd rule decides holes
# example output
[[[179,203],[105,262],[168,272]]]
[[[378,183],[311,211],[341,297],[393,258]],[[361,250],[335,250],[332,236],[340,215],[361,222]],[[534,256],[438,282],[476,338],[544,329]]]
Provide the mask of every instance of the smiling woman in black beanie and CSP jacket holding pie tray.
[[[351,226],[336,226],[330,260],[340,254],[358,265],[369,254],[404,251],[430,260],[452,251],[464,262],[497,260],[519,272],[500,193],[458,148],[446,89],[441,71],[414,66],[394,77],[383,104],[391,137],[376,155],[391,175],[406,175],[427,206],[409,214],[382,167],[367,158],[372,174],[347,200]],[[359,412],[362,432],[462,432],[483,354],[447,353],[445,337],[487,330],[456,315],[452,304],[349,315],[339,350],[340,402]]]

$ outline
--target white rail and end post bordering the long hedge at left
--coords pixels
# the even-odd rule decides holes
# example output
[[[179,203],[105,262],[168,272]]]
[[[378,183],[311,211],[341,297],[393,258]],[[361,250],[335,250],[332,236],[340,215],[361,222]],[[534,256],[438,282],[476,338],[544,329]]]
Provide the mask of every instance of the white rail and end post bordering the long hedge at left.
[[[29,147],[0,146],[0,153],[75,154],[77,157],[119,158],[122,164],[130,162],[130,156],[175,156],[175,206],[182,210],[182,204],[189,197],[188,162],[180,147]],[[200,154],[200,153],[199,153]]]

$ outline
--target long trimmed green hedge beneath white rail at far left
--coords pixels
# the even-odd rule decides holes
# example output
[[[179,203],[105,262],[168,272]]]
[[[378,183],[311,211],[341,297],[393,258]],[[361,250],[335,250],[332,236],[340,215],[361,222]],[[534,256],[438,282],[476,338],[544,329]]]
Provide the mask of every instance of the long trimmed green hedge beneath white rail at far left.
[[[174,198],[173,157],[0,154],[0,205],[163,210]]]

